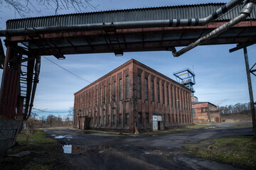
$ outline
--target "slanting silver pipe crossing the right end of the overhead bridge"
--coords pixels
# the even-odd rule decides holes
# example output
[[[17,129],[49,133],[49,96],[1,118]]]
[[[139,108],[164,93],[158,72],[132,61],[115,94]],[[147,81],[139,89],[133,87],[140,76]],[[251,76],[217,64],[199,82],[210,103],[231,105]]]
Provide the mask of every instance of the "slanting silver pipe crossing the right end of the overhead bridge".
[[[174,57],[178,57],[180,55],[183,55],[185,52],[188,52],[189,50],[193,49],[194,47],[203,44],[204,42],[210,40],[211,38],[215,37],[216,35],[219,35],[220,33],[223,33],[225,30],[228,30],[228,28],[235,26],[236,24],[243,21],[247,16],[250,16],[250,13],[252,12],[252,8],[254,7],[255,0],[247,0],[245,1],[245,5],[243,6],[240,15],[230,20],[228,23],[223,24],[222,26],[215,28],[212,32],[208,33],[207,35],[203,36],[202,38],[199,38],[196,40],[196,42],[191,43],[190,45],[184,47],[183,49],[176,51],[175,47],[170,47],[169,50],[171,50]]]

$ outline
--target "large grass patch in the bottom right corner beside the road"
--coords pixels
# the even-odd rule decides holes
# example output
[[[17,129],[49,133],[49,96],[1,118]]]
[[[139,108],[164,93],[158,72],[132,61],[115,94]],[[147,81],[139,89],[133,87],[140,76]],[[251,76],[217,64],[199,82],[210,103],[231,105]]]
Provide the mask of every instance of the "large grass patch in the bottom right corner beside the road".
[[[256,169],[256,140],[252,136],[223,137],[187,145],[193,156]]]

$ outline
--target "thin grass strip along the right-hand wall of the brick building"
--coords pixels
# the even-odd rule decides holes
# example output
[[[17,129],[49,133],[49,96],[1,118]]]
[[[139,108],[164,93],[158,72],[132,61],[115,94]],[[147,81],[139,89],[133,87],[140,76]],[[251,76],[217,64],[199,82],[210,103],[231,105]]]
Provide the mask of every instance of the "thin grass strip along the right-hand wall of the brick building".
[[[183,132],[186,130],[198,130],[201,128],[210,128],[213,126],[211,125],[200,125],[200,124],[196,124],[196,125],[191,125],[191,126],[187,126],[184,128],[174,128],[174,129],[169,129],[169,130],[159,130],[159,131],[154,131],[154,132],[144,132],[142,133],[142,135],[161,135],[161,134],[166,134],[166,133],[176,133],[176,132]]]

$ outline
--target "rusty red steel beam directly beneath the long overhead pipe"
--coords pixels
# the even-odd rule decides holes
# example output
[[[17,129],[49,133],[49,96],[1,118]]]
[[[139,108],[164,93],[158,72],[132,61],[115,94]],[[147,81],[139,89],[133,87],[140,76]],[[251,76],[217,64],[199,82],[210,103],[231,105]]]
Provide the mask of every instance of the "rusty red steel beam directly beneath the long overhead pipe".
[[[176,32],[194,32],[207,29],[215,29],[222,26],[225,22],[209,23],[207,26],[183,26],[183,27],[162,27],[162,28],[130,28],[117,29],[116,35],[142,34],[142,33],[176,33]],[[233,28],[256,27],[256,21],[242,21]],[[90,30],[90,31],[74,31],[66,33],[45,33],[38,34],[43,39],[58,40],[63,38],[81,38],[83,36],[99,37],[106,35],[105,30]],[[11,36],[11,42],[26,42],[30,40],[40,40],[41,38],[31,38],[31,35]]]

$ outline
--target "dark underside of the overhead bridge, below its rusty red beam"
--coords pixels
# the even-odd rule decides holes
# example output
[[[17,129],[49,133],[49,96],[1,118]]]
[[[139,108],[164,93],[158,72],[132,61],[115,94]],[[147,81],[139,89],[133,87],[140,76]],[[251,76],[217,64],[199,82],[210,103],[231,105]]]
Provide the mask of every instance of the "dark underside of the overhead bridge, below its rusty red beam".
[[[213,38],[209,40],[204,45],[214,45],[214,44],[233,44],[245,41],[256,40],[256,37],[245,37],[245,38]],[[168,50],[172,46],[185,46],[193,42],[194,40],[172,40],[172,41],[158,41],[158,42],[132,42],[132,43],[122,43],[120,44],[124,52],[134,52],[134,51],[152,51],[152,50]],[[93,47],[93,49],[92,49]],[[71,54],[82,54],[82,53],[97,53],[97,52],[114,52],[110,47],[105,45],[90,45],[87,46],[77,46],[76,50],[74,47],[59,47],[61,54],[71,55]],[[37,55],[52,55],[50,50],[36,49]]]

